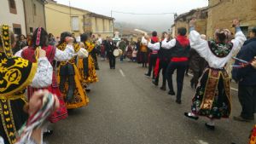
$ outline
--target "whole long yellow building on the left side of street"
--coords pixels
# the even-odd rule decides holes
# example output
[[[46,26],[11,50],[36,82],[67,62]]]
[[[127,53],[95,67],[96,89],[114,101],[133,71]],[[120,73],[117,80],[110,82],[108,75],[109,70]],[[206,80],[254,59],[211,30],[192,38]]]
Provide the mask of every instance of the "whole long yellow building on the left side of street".
[[[113,37],[113,18],[84,9],[49,2],[45,5],[47,31],[55,36],[61,32],[73,32],[76,36],[92,32],[95,36]]]

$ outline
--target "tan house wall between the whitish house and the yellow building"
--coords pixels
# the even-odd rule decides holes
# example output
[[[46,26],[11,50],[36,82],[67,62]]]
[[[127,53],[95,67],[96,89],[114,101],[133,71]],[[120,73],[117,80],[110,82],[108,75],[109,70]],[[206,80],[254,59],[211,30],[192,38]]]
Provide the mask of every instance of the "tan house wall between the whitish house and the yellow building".
[[[31,33],[31,27],[33,28],[33,31],[39,26],[45,28],[44,3],[39,0],[24,0],[24,2],[26,12],[26,33]],[[34,15],[34,4],[36,5],[36,15]]]

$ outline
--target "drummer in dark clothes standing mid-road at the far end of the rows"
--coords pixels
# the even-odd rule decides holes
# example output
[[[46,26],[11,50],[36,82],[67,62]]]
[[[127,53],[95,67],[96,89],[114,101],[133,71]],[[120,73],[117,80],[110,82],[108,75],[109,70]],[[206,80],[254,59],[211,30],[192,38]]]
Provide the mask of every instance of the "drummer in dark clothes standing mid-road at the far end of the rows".
[[[113,55],[114,49],[117,49],[117,47],[115,43],[113,43],[113,39],[110,37],[108,39],[108,43],[106,44],[106,50],[107,50],[110,69],[115,69],[115,56]]]

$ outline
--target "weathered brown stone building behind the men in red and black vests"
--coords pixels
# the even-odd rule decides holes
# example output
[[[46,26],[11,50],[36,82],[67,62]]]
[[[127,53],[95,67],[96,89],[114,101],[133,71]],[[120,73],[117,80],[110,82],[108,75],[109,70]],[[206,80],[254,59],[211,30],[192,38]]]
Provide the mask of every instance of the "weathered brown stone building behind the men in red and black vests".
[[[188,13],[178,15],[172,25],[172,37],[177,36],[178,27],[189,30],[189,20],[196,20],[195,29],[201,34],[207,34],[207,17],[207,8],[192,9]]]

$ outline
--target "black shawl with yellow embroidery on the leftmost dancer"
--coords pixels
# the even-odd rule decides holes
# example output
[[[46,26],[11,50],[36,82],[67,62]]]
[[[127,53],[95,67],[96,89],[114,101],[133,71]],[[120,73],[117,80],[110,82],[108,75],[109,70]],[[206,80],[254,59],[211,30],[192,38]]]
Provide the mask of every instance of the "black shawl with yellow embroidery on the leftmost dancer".
[[[8,57],[0,52],[0,95],[9,96],[32,83],[38,65],[20,57]]]

